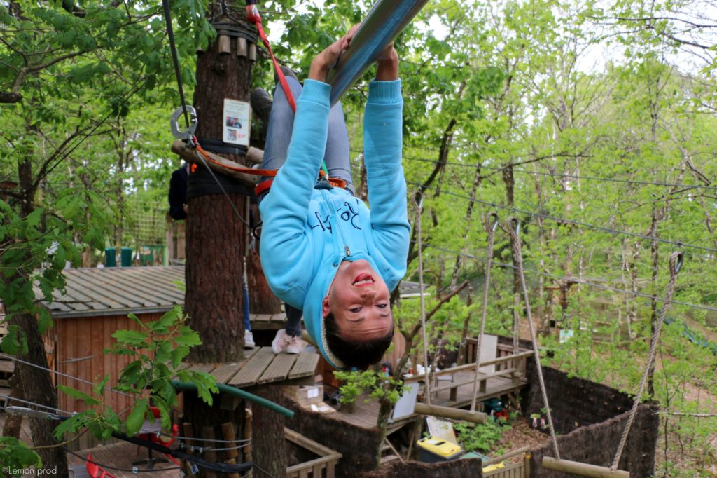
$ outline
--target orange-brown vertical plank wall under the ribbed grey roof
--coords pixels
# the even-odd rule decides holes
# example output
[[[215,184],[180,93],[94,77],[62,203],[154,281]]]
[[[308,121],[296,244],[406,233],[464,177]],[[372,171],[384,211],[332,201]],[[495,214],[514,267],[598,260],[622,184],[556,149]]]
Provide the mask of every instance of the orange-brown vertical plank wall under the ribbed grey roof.
[[[141,314],[138,318],[143,322],[150,322],[161,317],[161,313]],[[117,384],[122,369],[131,362],[126,355],[104,354],[103,350],[115,344],[112,334],[115,330],[140,329],[139,324],[126,315],[105,317],[77,317],[71,319],[56,319],[54,327],[49,331],[49,337],[54,342],[54,370],[72,375],[90,382],[98,382],[105,374],[110,375],[108,387]],[[87,357],[87,358],[85,358]],[[82,360],[73,360],[82,359]],[[79,383],[77,380],[55,375],[56,385],[67,385],[85,393],[91,393],[91,386]],[[58,392],[58,403],[62,410],[83,411],[85,406],[65,393]],[[115,412],[125,411],[132,400],[119,393],[105,391],[105,403]],[[126,418],[121,416],[120,418]]]

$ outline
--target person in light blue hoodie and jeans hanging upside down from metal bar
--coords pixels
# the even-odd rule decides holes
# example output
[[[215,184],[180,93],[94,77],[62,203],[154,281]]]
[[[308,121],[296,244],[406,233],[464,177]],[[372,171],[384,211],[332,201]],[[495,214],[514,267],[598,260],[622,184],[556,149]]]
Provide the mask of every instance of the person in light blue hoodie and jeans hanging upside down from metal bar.
[[[341,104],[329,103],[326,75],[356,27],[320,52],[303,88],[287,78],[296,102],[274,96],[265,169],[280,169],[260,198],[260,256],[267,281],[287,304],[276,353],[300,350],[300,317],[323,357],[337,369],[366,369],[391,344],[389,304],[406,272],[409,222],[401,166],[402,108],[398,55],[390,44],[377,60],[364,115],[364,156],[371,210],[353,197],[348,135]],[[317,181],[322,160],[346,187]]]

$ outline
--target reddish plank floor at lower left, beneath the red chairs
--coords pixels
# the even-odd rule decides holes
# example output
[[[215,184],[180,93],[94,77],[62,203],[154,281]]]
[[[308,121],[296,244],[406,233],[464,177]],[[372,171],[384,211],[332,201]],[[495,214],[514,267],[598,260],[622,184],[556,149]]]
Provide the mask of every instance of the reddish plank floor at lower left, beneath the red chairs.
[[[147,467],[144,465],[138,465],[137,469],[140,471],[140,473],[133,474],[132,462],[145,459],[147,457],[147,449],[141,448],[139,449],[138,453],[137,446],[131,443],[127,443],[126,441],[121,441],[120,443],[115,443],[111,445],[95,446],[94,448],[82,451],[75,451],[75,453],[85,459],[91,453],[92,461],[94,461],[95,463],[98,463],[101,466],[106,465],[108,467],[125,470],[120,471],[105,468],[106,472],[113,474],[116,478],[136,478],[137,476],[151,476],[153,478],[179,477],[179,469],[177,469],[176,464],[172,463],[171,460],[168,460],[169,463],[156,463],[154,465],[153,472],[151,473],[142,472],[142,470],[146,470]],[[152,456],[154,458],[162,457],[161,454],[158,454],[156,452],[153,452]],[[85,459],[79,458],[73,454],[67,454],[67,464],[69,466],[85,466]],[[166,469],[166,471],[161,471],[162,469]]]

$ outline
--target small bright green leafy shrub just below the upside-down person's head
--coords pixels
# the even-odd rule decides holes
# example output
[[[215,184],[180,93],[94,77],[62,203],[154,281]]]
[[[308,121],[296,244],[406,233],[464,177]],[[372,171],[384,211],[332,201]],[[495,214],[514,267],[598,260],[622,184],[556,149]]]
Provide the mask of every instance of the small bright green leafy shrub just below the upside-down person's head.
[[[355,403],[364,393],[369,393],[369,399],[382,400],[395,405],[404,390],[402,382],[396,380],[386,372],[376,370],[364,370],[363,372],[333,372],[337,380],[343,382],[341,390],[341,403]]]

